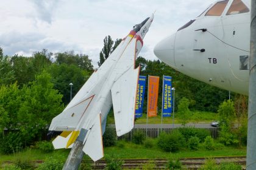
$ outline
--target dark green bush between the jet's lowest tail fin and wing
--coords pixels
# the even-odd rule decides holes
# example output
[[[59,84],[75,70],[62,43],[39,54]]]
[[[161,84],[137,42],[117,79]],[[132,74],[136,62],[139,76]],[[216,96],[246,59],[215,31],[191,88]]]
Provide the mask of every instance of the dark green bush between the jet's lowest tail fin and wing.
[[[117,139],[116,139],[116,132],[115,132],[115,128],[106,126],[104,135],[103,135],[103,145],[104,147],[107,146],[115,146]]]

